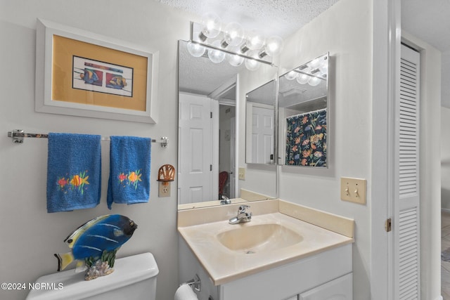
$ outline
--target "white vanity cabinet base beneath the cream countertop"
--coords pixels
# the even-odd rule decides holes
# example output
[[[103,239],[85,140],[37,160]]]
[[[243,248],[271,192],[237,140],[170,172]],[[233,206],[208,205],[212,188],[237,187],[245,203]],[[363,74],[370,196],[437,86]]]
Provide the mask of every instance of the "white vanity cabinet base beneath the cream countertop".
[[[184,241],[181,239],[183,244]],[[195,261],[200,273],[199,300],[352,300],[352,244],[329,249],[304,259],[268,268],[223,285],[214,283],[186,245],[182,261]],[[252,254],[243,254],[252,255]],[[183,269],[183,268],[181,268]],[[181,273],[189,273],[181,270]],[[193,274],[191,273],[191,277]],[[206,294],[205,294],[206,293]]]

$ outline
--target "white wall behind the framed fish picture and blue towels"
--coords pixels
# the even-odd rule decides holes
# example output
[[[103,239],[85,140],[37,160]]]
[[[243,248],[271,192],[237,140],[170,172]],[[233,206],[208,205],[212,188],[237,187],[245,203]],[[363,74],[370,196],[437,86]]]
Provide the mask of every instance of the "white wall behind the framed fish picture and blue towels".
[[[53,253],[68,252],[64,238],[77,226],[102,214],[124,214],[139,228],[117,256],[152,252],[160,274],[157,299],[173,299],[178,285],[176,233],[176,183],[172,196],[158,198],[158,168],[176,166],[177,152],[177,49],[178,39],[188,39],[189,20],[157,1],[8,1],[0,0],[0,281],[34,282],[56,272]],[[160,51],[158,124],[68,117],[34,112],[36,18],[89,30]],[[151,195],[148,204],[105,204],[109,174],[109,144],[102,142],[101,204],[95,209],[46,212],[45,139],[27,138],[15,145],[7,131],[32,133],[73,132],[102,136],[169,137],[169,146],[153,144]],[[27,291],[0,291],[0,299],[24,299]]]

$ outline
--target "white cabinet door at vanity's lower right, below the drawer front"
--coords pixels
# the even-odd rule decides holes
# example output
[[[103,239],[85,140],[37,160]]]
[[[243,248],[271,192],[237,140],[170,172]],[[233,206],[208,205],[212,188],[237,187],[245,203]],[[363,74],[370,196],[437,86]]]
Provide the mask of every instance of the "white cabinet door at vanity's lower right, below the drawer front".
[[[344,275],[300,294],[300,300],[352,300],[353,276]]]

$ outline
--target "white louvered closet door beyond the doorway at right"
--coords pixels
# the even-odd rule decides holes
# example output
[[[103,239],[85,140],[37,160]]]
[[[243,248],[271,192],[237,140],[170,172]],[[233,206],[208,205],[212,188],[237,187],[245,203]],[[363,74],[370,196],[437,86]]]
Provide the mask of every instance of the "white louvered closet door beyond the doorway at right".
[[[419,74],[420,54],[401,45],[396,103],[394,299],[420,299]]]

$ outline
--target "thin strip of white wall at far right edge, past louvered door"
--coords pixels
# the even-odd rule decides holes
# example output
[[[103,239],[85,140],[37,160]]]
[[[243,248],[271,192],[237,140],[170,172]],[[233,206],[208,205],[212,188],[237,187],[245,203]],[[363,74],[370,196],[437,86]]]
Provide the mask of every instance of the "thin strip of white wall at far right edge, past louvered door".
[[[441,106],[441,207],[450,211],[450,108]]]

